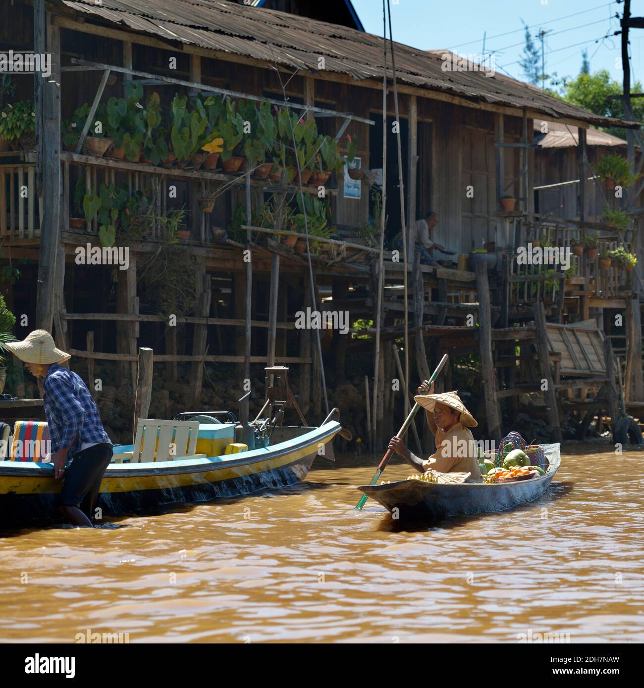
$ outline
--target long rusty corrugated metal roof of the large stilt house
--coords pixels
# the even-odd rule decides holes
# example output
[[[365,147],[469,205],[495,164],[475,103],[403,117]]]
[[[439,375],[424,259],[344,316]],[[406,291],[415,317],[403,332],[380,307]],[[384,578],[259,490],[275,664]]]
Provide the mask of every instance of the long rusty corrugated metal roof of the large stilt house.
[[[311,72],[318,71],[322,56],[326,72],[348,74],[357,81],[382,78],[381,36],[307,17],[222,0],[102,0],[100,5],[94,0],[61,1],[76,12],[166,40]],[[592,114],[498,73],[444,72],[443,51],[427,52],[402,43],[395,43],[395,50],[397,77],[413,86],[600,127],[636,125]],[[391,76],[391,67],[388,72]]]

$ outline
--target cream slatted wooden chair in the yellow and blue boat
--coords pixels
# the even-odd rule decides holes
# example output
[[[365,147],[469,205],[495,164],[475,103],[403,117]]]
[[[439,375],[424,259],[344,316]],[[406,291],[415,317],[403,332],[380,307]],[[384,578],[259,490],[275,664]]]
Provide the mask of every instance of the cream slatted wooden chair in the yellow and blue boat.
[[[134,451],[114,454],[114,462],[123,463],[129,459],[136,464],[205,458],[205,454],[195,453],[198,432],[198,421],[139,418]]]

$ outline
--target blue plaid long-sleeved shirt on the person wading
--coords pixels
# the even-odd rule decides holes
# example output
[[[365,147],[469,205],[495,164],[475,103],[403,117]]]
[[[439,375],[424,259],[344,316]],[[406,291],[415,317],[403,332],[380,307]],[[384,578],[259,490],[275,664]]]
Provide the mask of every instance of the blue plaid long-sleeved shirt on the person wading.
[[[81,451],[83,442],[109,442],[103,430],[96,402],[83,380],[58,363],[50,365],[43,384],[43,407],[52,440],[52,454],[61,447],[69,447],[74,435],[78,437],[70,455]]]

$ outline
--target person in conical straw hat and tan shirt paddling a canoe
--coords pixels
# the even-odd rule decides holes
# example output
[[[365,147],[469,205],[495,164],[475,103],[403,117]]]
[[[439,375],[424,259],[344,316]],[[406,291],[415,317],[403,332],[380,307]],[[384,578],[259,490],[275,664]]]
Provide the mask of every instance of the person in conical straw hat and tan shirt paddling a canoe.
[[[430,393],[423,394],[427,389]],[[397,437],[391,438],[389,449],[393,449],[421,473],[427,469],[441,473],[470,473],[468,482],[482,482],[477,443],[469,430],[477,427],[478,423],[458,394],[455,391],[434,394],[434,383],[428,387],[425,380],[418,388],[418,396],[414,397],[414,401],[425,409],[429,429],[436,440],[435,453],[423,461]]]

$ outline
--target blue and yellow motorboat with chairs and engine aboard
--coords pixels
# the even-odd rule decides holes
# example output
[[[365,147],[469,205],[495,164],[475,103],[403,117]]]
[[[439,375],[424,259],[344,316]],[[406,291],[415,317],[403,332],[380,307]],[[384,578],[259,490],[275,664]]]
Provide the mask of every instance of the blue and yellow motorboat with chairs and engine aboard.
[[[333,458],[333,438],[346,433],[337,409],[320,427],[265,422],[244,427],[233,416],[226,422],[202,413],[180,416],[139,420],[134,444],[114,447],[97,503],[103,517],[293,485],[307,477],[316,456]],[[247,444],[238,441],[240,428],[242,438],[248,440],[250,433]],[[52,464],[39,455],[25,458],[27,451],[18,454],[0,461],[0,523],[25,526],[55,519],[61,480],[54,479]]]

